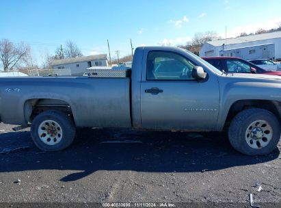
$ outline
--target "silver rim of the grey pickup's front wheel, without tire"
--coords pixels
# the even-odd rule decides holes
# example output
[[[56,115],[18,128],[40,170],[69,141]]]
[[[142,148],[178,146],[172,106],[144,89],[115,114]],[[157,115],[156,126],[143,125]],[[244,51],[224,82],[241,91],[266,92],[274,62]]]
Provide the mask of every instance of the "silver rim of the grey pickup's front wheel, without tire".
[[[245,139],[247,144],[255,149],[263,148],[269,144],[273,137],[273,130],[266,120],[252,122],[246,130]]]

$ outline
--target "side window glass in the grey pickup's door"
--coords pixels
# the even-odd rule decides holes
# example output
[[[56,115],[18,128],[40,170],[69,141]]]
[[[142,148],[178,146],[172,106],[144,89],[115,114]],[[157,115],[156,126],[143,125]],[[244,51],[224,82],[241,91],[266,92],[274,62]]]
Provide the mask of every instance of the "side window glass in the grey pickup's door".
[[[193,66],[195,66],[195,64],[182,55],[164,51],[151,51],[148,53],[146,64],[146,79],[192,80],[194,79],[192,77]]]

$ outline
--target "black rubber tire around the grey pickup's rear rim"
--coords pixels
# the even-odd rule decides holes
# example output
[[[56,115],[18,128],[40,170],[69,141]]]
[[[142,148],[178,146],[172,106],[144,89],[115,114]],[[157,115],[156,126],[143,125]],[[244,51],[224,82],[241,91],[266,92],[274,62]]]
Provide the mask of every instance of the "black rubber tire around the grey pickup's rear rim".
[[[57,142],[57,139],[55,138],[57,144],[49,145],[46,144],[46,142],[44,143],[40,139],[38,131],[42,122],[46,120],[53,120],[57,122],[59,127],[61,127],[58,127],[59,131],[62,132],[62,135],[59,135],[61,137],[59,138],[59,142]],[[75,138],[75,131],[75,125],[73,124],[70,117],[57,110],[48,110],[46,112],[38,114],[38,116],[34,118],[31,124],[31,138],[34,141],[34,144],[36,144],[36,146],[38,146],[38,148],[40,148],[40,150],[42,151],[61,151],[64,148],[68,147]]]

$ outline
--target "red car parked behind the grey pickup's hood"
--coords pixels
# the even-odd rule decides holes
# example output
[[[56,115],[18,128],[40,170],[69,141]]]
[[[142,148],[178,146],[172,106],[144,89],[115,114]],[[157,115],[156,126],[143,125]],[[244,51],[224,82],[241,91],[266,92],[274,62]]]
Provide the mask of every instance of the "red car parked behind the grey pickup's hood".
[[[214,56],[202,57],[202,59],[215,66],[215,68],[221,71],[224,70],[226,73],[256,73],[281,76],[281,71],[265,70],[239,57]]]

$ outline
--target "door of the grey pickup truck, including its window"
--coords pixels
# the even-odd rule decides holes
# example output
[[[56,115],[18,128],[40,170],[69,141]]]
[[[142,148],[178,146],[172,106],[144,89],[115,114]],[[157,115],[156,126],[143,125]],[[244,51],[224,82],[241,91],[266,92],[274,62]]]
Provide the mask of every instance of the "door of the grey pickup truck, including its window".
[[[141,83],[142,128],[215,129],[219,112],[217,77],[198,82],[192,77],[195,65],[178,53],[148,53]]]

